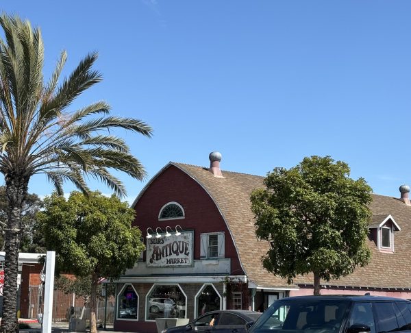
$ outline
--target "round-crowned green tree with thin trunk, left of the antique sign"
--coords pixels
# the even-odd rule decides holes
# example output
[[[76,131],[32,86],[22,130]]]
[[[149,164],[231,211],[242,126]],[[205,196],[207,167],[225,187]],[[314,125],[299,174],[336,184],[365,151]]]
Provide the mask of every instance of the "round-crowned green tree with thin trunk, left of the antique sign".
[[[91,332],[97,332],[101,279],[116,279],[134,267],[145,248],[132,221],[134,210],[127,203],[99,192],[88,196],[73,192],[68,200],[53,194],[45,199],[45,210],[38,213],[47,248],[56,251],[57,271],[90,281]]]

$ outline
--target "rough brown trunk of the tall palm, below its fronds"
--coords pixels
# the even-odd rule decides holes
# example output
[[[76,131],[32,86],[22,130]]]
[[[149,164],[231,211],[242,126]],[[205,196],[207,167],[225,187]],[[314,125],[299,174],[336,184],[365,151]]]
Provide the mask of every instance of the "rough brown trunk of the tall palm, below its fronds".
[[[27,195],[28,183],[28,177],[23,177],[16,173],[5,176],[8,223],[7,227],[5,227],[3,317],[1,319],[0,333],[18,332],[18,248],[21,238],[21,210]]]

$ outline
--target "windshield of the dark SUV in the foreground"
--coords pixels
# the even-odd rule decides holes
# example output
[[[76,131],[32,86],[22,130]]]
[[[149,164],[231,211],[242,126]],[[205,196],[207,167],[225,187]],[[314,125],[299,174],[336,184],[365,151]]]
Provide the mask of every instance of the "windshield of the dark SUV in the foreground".
[[[284,299],[275,301],[251,332],[336,333],[347,313],[345,299]]]

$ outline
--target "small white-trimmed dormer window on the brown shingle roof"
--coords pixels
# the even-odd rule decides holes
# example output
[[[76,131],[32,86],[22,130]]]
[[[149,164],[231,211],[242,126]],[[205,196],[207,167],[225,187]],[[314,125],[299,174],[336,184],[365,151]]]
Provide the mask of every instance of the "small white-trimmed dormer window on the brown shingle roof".
[[[394,251],[394,232],[401,230],[391,214],[373,215],[373,220],[369,226],[371,238],[375,241],[377,249],[383,252]]]

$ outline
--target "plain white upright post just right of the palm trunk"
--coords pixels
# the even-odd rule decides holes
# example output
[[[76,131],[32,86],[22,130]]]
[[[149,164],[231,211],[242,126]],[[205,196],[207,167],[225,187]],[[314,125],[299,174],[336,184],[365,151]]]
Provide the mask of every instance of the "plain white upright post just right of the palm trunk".
[[[47,251],[45,310],[42,321],[42,333],[51,333],[51,319],[53,318],[54,265],[55,251]]]

